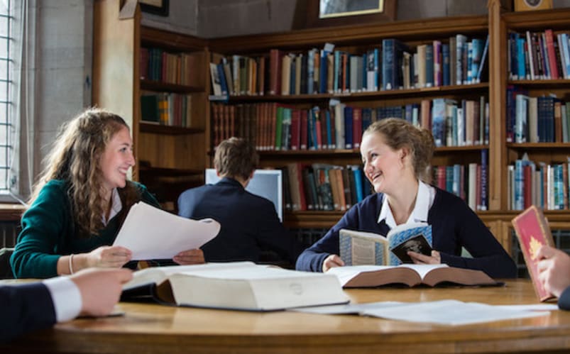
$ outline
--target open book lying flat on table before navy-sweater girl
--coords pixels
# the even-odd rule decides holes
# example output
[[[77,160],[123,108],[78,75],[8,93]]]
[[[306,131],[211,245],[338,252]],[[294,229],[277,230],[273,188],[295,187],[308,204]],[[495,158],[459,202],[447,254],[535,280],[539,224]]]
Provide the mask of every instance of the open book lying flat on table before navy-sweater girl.
[[[461,285],[500,285],[481,270],[470,270],[449,265],[349,265],[333,267],[327,274],[339,277],[343,287],[380,287],[388,284],[407,284],[413,287],[426,284],[434,287],[451,282]]]

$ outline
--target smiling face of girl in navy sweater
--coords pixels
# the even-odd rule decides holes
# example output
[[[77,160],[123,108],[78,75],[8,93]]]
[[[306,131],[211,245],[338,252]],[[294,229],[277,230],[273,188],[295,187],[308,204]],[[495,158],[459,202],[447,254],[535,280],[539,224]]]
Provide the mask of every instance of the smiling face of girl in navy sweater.
[[[405,151],[393,150],[386,145],[381,133],[366,133],[360,147],[364,174],[378,193],[393,194],[402,177],[409,173],[405,168]],[[408,171],[408,172],[406,172]]]

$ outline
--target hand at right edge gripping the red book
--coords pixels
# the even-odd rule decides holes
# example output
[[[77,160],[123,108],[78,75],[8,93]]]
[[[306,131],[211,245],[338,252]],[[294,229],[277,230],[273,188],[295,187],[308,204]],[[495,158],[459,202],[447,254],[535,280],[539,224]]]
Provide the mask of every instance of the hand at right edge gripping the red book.
[[[570,255],[562,250],[542,245],[537,252],[538,279],[544,289],[558,297],[558,306],[570,310]]]

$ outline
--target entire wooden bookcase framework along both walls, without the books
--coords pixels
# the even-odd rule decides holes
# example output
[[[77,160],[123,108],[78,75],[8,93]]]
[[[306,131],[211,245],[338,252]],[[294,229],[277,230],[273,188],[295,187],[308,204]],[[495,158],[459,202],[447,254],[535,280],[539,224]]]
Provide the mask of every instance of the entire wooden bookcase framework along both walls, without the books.
[[[119,6],[119,3],[122,6]],[[133,5],[134,3],[134,5]],[[297,107],[325,105],[332,97],[354,106],[404,105],[420,99],[470,99],[485,96],[489,102],[488,145],[438,148],[432,165],[466,165],[480,162],[481,149],[488,149],[488,211],[478,215],[507,250],[512,250],[510,220],[518,211],[508,210],[508,165],[522,153],[544,162],[559,161],[570,154],[569,144],[513,144],[505,139],[505,104],[508,84],[524,86],[531,94],[555,93],[566,96],[570,80],[535,80],[510,82],[507,72],[508,31],[570,31],[570,9],[503,13],[500,1],[488,1],[488,16],[460,16],[418,21],[373,23],[338,28],[315,28],[287,33],[244,35],[202,40],[187,35],[141,27],[136,1],[98,0],[94,3],[94,76],[93,102],[124,116],[133,127],[138,166],[133,177],[154,187],[168,189],[170,201],[182,189],[203,182],[203,170],[212,164],[213,128],[209,61],[220,55],[268,55],[273,48],[285,52],[322,48],[334,43],[336,48],[358,52],[378,44],[383,38],[398,38],[410,46],[447,40],[461,33],[468,37],[489,35],[488,82],[452,85],[429,89],[405,89],[361,92],[346,95],[302,94],[288,96],[231,96],[229,104],[278,102]],[[122,10],[120,10],[122,9]],[[178,87],[139,79],[141,45],[157,46],[173,52],[202,52],[204,62],[197,70],[197,82]],[[192,128],[148,126],[140,123],[141,92],[184,92],[196,95],[196,116]],[[193,101],[194,102],[194,101]],[[358,165],[358,150],[261,151],[263,167],[283,166],[287,162],[324,162],[334,165]],[[150,167],[141,164],[150,162]],[[174,186],[174,187],[172,187]],[[285,214],[290,228],[329,228],[343,213],[340,211],[298,211]],[[545,211],[552,228],[570,229],[570,212]]]

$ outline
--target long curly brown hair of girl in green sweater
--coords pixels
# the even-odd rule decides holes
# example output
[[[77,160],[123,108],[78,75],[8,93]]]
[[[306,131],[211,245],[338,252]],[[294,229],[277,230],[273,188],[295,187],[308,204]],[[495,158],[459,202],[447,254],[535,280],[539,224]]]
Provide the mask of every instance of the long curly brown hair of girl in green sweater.
[[[99,162],[109,141],[124,127],[128,128],[120,116],[95,108],[65,123],[52,152],[45,158],[45,170],[34,186],[30,204],[51,179],[65,180],[79,236],[97,234],[104,227],[104,188]],[[125,214],[137,199],[135,185],[127,183],[119,195],[123,203],[121,212]]]

